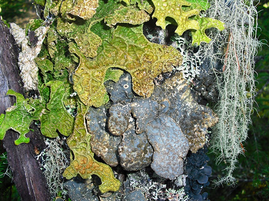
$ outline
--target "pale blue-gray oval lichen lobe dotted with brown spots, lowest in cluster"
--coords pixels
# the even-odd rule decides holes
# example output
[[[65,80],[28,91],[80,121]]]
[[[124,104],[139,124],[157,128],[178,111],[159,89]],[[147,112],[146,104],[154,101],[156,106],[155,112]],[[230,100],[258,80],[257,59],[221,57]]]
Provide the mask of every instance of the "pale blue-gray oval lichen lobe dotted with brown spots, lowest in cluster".
[[[182,175],[189,141],[179,125],[163,114],[147,126],[146,133],[154,149],[151,168],[156,174],[171,180]]]

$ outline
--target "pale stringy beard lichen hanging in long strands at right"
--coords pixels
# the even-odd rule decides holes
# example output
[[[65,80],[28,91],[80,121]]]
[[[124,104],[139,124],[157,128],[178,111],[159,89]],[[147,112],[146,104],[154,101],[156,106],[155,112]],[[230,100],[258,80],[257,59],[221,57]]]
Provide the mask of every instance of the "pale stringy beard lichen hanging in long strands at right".
[[[244,152],[241,145],[247,138],[255,94],[254,57],[260,46],[256,39],[257,11],[253,0],[248,5],[241,0],[210,2],[208,17],[223,21],[227,27],[222,32],[212,31],[212,41],[201,47],[206,58],[224,64],[223,73],[216,73],[219,123],[213,133],[213,148],[219,154],[217,163],[227,164],[227,175],[216,184],[233,185],[233,171],[238,155]]]

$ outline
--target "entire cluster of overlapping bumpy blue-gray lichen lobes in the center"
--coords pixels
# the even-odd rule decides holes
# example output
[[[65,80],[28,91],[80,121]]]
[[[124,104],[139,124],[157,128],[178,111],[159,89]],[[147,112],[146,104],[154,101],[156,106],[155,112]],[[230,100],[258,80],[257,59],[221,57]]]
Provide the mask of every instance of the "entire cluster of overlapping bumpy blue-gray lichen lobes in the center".
[[[217,118],[197,103],[179,72],[155,86],[149,98],[134,96],[129,87],[131,77],[126,73],[118,83],[107,84],[112,106],[90,108],[87,126],[92,150],[113,166],[120,158],[127,171],[151,163],[158,175],[173,180],[182,175],[188,150],[196,152],[205,145],[207,129]]]

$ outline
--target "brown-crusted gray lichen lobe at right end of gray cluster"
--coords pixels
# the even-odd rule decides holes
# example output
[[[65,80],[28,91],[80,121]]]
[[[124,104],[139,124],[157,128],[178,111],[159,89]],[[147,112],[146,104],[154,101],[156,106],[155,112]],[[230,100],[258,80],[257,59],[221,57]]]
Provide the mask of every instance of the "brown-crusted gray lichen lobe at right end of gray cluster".
[[[190,150],[196,152],[205,145],[207,128],[218,121],[216,114],[207,106],[199,105],[190,86],[178,72],[161,86],[156,86],[151,99],[160,102],[169,97],[168,116],[177,122],[190,142]]]

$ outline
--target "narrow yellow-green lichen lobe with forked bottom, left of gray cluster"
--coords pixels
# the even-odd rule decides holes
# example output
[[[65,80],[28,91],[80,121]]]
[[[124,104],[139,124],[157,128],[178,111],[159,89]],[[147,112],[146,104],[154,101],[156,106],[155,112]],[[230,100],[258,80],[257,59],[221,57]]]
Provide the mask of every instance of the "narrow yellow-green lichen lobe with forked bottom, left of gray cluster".
[[[117,191],[120,188],[120,181],[114,177],[113,171],[108,165],[94,159],[94,153],[91,151],[91,135],[87,132],[85,123],[85,114],[88,108],[88,106],[78,103],[75,128],[67,139],[67,144],[72,150],[74,158],[71,158],[70,166],[65,169],[63,176],[71,179],[78,174],[82,178],[91,178],[91,175],[97,175],[102,182],[99,185],[99,190],[102,193]]]

